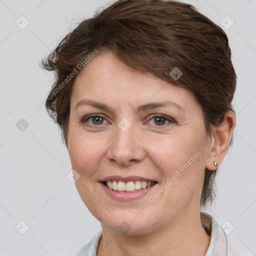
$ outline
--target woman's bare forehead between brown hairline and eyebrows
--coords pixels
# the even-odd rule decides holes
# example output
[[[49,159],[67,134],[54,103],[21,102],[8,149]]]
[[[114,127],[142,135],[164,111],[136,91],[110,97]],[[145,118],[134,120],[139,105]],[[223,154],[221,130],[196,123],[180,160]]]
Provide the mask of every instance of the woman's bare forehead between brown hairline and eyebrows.
[[[151,73],[139,72],[118,60],[113,53],[96,55],[78,73],[74,82],[71,105],[84,97],[114,104],[127,98],[134,102],[166,101],[191,109],[197,104],[193,95]]]

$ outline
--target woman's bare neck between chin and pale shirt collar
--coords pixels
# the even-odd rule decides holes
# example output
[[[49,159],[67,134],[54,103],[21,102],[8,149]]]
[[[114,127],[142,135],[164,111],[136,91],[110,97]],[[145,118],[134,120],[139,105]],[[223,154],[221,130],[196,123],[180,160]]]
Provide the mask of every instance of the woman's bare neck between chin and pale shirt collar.
[[[143,234],[120,234],[104,224],[97,254],[106,255],[190,255],[204,256],[210,235],[204,230],[200,215],[177,217],[162,228]]]

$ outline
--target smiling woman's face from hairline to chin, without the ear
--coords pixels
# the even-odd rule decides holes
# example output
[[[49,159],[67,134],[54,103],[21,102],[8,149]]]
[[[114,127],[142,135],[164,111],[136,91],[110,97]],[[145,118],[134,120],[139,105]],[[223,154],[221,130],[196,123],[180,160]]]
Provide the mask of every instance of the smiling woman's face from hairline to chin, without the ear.
[[[112,53],[76,77],[68,152],[80,197],[106,228],[145,233],[199,214],[209,141],[192,94]]]

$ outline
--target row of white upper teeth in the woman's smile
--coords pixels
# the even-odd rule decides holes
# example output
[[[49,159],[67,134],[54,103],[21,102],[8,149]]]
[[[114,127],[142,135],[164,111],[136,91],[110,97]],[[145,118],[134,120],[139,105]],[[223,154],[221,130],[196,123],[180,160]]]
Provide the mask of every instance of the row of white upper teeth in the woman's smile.
[[[117,191],[128,191],[133,192],[140,189],[145,189],[153,185],[155,182],[150,181],[140,181],[136,180],[135,183],[133,181],[123,182],[123,181],[106,181],[106,186],[110,189],[117,190]]]

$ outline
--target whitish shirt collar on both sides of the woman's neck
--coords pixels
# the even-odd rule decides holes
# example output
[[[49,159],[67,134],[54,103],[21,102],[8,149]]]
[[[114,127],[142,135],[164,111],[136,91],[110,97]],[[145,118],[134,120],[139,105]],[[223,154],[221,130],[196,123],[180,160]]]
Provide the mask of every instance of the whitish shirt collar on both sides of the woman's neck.
[[[207,233],[210,231],[210,242],[205,256],[255,256],[252,252],[245,251],[227,238],[224,230],[215,219],[206,212],[200,212],[204,216],[202,225]],[[208,229],[209,228],[209,229]],[[97,246],[102,236],[100,230],[93,239],[84,245],[76,256],[96,256]]]

